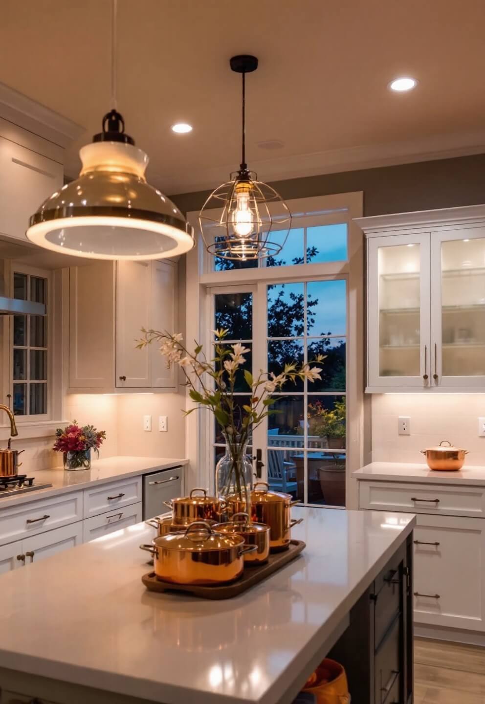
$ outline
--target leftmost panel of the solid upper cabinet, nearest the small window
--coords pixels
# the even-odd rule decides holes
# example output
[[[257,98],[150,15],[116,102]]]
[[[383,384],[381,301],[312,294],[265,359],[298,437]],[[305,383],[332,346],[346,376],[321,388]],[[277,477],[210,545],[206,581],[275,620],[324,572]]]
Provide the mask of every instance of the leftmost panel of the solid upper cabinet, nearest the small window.
[[[112,389],[115,381],[115,265],[69,270],[70,389]]]

